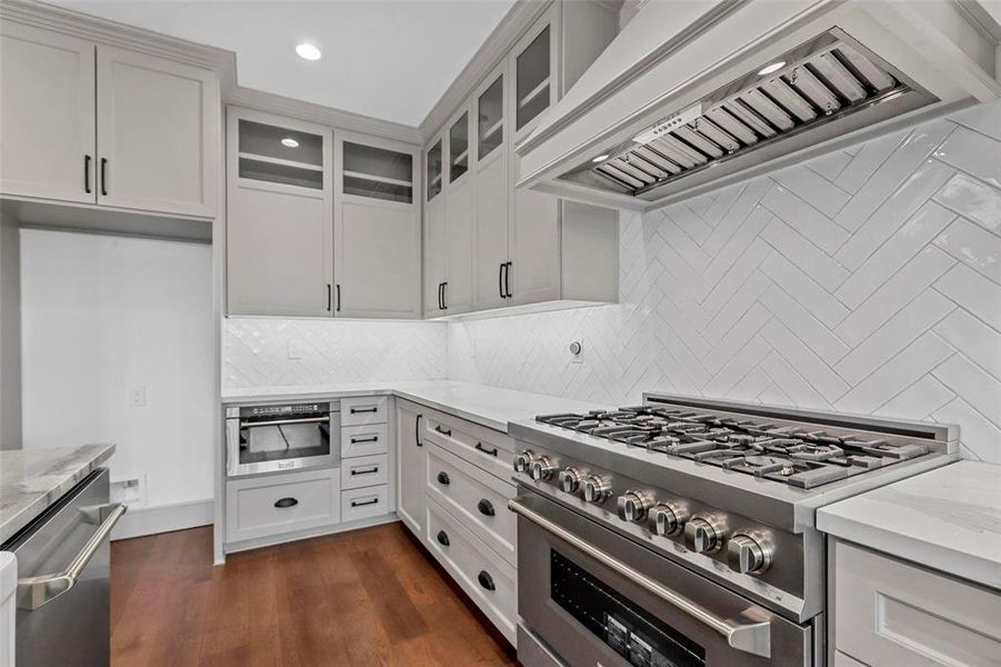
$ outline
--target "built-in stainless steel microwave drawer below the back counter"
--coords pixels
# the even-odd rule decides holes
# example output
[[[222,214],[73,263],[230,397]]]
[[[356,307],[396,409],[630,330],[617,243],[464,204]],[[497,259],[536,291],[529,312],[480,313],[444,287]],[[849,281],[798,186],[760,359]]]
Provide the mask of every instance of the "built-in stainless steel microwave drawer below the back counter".
[[[228,407],[227,476],[337,466],[340,410],[336,400]]]

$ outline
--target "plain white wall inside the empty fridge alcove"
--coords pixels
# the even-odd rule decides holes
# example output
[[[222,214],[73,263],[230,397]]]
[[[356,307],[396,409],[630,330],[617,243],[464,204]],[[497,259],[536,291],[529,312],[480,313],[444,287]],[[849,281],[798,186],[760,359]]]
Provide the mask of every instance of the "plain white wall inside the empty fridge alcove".
[[[209,246],[21,230],[24,447],[111,441],[149,507],[211,500],[211,266]]]

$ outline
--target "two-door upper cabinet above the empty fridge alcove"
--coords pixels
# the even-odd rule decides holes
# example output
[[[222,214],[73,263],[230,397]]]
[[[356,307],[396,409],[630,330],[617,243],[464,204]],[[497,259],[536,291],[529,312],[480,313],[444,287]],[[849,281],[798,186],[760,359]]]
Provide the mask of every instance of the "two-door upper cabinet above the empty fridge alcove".
[[[216,216],[214,72],[10,21],[0,63],[4,196]]]

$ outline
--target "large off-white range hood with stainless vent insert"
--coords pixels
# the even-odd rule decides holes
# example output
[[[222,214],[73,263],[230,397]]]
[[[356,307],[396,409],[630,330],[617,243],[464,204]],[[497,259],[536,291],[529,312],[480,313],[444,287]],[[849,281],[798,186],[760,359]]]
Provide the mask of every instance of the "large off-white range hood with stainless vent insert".
[[[515,148],[517,187],[658,208],[994,99],[999,42],[973,1],[648,0]]]

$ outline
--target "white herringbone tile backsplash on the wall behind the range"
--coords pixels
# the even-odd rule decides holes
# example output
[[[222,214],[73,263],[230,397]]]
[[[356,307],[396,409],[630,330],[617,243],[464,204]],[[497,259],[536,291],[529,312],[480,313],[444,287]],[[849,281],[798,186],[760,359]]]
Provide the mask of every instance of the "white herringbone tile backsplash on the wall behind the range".
[[[619,305],[450,323],[449,377],[955,422],[1001,462],[1001,103],[623,215],[620,237]]]

